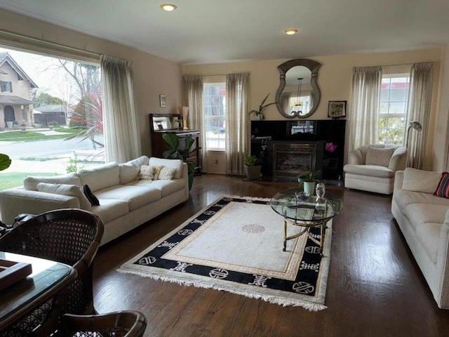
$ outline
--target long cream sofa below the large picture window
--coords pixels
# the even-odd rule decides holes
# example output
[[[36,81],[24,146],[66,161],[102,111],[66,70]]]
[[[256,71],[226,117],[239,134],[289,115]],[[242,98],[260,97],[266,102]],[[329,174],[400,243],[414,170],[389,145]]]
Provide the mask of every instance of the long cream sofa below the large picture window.
[[[166,166],[175,173],[171,180],[139,180],[140,167]],[[172,170],[173,172],[173,170]],[[100,206],[91,206],[84,195],[65,195],[39,192],[38,184],[65,187],[88,185]],[[79,189],[75,189],[79,192]],[[189,199],[187,164],[180,159],[139,157],[125,164],[110,163],[95,169],[81,169],[55,177],[27,177],[23,187],[0,191],[0,215],[12,224],[18,213],[39,214],[53,209],[87,209],[98,215],[105,225],[101,244],[171,209]],[[80,204],[81,200],[81,204]],[[83,207],[81,207],[83,205]]]

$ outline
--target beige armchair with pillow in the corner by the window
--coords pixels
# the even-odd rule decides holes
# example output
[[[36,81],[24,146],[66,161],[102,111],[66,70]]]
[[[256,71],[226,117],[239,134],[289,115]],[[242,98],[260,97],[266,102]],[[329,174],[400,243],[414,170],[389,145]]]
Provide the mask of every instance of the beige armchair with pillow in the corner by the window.
[[[344,187],[393,193],[394,173],[406,168],[406,147],[393,144],[361,146],[349,152],[344,165]]]

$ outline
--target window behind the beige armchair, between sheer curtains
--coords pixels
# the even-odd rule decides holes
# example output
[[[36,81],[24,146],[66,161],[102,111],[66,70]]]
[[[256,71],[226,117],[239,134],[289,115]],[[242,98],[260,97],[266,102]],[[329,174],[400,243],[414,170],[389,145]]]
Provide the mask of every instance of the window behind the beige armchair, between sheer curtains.
[[[403,144],[406,133],[409,85],[409,74],[385,74],[382,76],[379,143]]]

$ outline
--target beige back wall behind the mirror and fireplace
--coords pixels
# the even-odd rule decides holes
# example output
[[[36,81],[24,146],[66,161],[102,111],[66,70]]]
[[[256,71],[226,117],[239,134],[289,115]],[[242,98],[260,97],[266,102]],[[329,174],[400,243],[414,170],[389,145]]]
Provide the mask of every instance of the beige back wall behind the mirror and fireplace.
[[[429,121],[429,139],[427,141],[428,154],[425,159],[425,169],[431,169],[431,150],[433,146],[433,134],[436,118],[436,103],[438,95],[438,81],[440,72],[441,50],[431,48],[417,51],[401,51],[391,53],[366,53],[354,55],[331,55],[310,57],[311,60],[321,62],[319,70],[318,84],[321,89],[321,103],[316,112],[309,119],[327,119],[329,100],[347,100],[347,119],[351,119],[352,112],[351,82],[352,68],[373,65],[411,65],[414,62],[436,62],[434,65],[434,99],[431,107],[431,119]],[[279,86],[278,65],[286,62],[287,59],[264,60],[252,62],[228,62],[203,65],[182,65],[182,74],[230,74],[234,72],[250,73],[250,110],[257,109],[260,101],[267,93],[270,93],[269,101],[274,100],[274,95]],[[284,119],[272,105],[264,110],[265,119]],[[349,136],[349,121],[347,124],[347,136]],[[346,145],[347,146],[347,145]],[[347,152],[347,151],[345,151]],[[345,154],[345,158],[347,153]],[[215,162],[214,154],[208,162]],[[208,168],[209,171],[209,168]]]

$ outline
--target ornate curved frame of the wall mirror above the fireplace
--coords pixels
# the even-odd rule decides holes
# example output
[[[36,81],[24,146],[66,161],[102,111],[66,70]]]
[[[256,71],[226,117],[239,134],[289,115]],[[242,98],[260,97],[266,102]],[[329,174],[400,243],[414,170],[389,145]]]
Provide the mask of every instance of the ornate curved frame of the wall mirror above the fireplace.
[[[283,89],[286,87],[286,74],[288,70],[292,69],[293,67],[302,66],[306,67],[311,72],[311,79],[310,79],[310,86],[311,86],[311,97],[313,99],[311,100],[312,104],[308,112],[286,112],[283,110],[283,107],[281,105],[281,94],[283,92]],[[286,118],[307,118],[311,114],[313,114],[316,109],[318,108],[318,105],[321,100],[321,91],[318,86],[318,70],[321,67],[320,62],[316,62],[314,60],[309,60],[307,58],[296,58],[294,60],[288,60],[287,62],[283,62],[281,65],[279,65],[278,70],[280,74],[279,78],[279,88],[276,91],[276,107],[278,108],[279,113]]]

